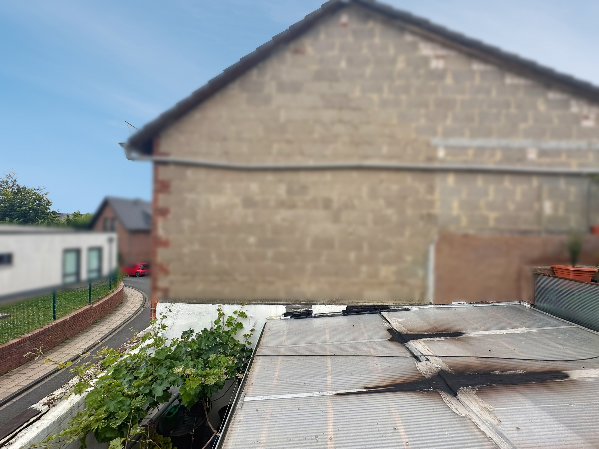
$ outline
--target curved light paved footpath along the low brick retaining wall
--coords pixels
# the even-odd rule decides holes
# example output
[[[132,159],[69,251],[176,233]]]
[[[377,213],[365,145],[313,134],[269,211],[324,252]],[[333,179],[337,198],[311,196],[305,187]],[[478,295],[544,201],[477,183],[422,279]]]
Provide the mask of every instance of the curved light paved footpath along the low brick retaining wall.
[[[114,330],[117,330],[123,323],[128,321],[143,302],[144,297],[140,291],[125,287],[123,302],[119,307],[87,327],[87,329],[81,330],[77,335],[52,348],[46,355],[56,362],[65,363],[77,357],[79,353],[92,349],[104,340],[108,334],[113,333]],[[27,362],[25,365],[21,365],[19,368],[0,376],[0,401],[32,382],[46,377],[55,369],[56,365],[53,363],[45,363],[42,359],[31,360],[31,362]]]

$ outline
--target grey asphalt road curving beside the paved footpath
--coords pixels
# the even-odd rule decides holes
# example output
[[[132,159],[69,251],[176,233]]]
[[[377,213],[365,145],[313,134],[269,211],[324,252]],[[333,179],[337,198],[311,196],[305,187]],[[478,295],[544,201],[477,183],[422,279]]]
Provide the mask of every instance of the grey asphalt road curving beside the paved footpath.
[[[137,290],[141,290],[146,293],[146,296],[150,298],[150,278],[145,276],[141,278],[136,277],[126,277],[124,283],[128,287],[132,287]],[[147,303],[146,303],[147,305]],[[139,332],[140,330],[146,329],[147,323],[150,321],[150,309],[143,308],[140,312],[132,318],[122,329],[118,330],[116,333],[110,336],[107,340],[99,344],[98,349],[103,346],[108,346],[109,348],[118,348],[124,342],[126,342],[129,338],[133,336],[135,331]],[[95,352],[92,350],[92,353]],[[68,382],[74,375],[66,370],[62,370],[57,372],[56,374],[50,376],[46,380],[37,384],[36,386],[29,389],[27,392],[23,393],[17,398],[13,399],[13,401],[8,402],[0,408],[0,424],[10,421],[12,418],[16,417],[19,413],[25,411],[29,408],[29,406],[39,402],[40,399],[45,398],[47,395],[52,393],[54,390],[63,386],[66,382]]]

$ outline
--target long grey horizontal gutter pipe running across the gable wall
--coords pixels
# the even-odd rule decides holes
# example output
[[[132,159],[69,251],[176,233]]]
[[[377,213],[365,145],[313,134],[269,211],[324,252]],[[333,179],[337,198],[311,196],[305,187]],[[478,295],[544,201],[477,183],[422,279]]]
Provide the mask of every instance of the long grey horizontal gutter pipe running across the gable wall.
[[[526,175],[597,175],[599,168],[552,168],[524,167],[513,165],[474,165],[474,164],[426,164],[394,162],[325,162],[325,163],[231,163],[217,160],[186,159],[170,156],[146,156],[131,150],[125,144],[125,156],[129,160],[190,165],[232,171],[324,171],[324,170],[387,170],[387,171],[429,171],[429,172],[473,172],[504,173]]]

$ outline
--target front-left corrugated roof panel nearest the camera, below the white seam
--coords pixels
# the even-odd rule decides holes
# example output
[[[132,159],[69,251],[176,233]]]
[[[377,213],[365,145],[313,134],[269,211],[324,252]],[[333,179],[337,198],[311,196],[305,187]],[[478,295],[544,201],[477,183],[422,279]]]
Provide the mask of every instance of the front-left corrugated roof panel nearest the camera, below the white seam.
[[[407,443],[407,444],[406,444]],[[224,448],[495,448],[440,395],[419,392],[244,401]]]

